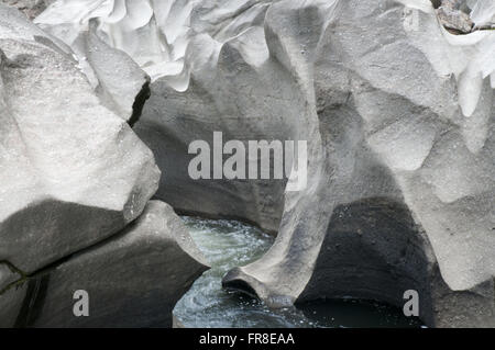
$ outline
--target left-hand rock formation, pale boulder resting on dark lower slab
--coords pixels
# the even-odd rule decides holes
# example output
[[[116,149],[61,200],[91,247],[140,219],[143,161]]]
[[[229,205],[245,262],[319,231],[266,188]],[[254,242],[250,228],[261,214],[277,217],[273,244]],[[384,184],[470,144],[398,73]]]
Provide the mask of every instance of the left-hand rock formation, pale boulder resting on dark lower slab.
[[[145,77],[88,42],[100,81],[110,64]],[[206,264],[173,210],[148,202],[160,170],[129,109],[106,108],[74,57],[0,4],[0,326],[172,326]],[[75,290],[92,295],[92,317],[72,313]]]

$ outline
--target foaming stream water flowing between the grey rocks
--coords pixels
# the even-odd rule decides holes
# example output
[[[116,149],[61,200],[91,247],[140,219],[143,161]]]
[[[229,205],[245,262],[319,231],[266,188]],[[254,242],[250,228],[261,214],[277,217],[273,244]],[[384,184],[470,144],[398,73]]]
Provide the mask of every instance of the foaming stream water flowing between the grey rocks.
[[[240,292],[222,290],[223,275],[260,258],[274,238],[234,221],[183,217],[211,264],[177,303],[174,315],[185,327],[419,327],[391,306],[355,301],[324,301],[298,308],[270,309]]]

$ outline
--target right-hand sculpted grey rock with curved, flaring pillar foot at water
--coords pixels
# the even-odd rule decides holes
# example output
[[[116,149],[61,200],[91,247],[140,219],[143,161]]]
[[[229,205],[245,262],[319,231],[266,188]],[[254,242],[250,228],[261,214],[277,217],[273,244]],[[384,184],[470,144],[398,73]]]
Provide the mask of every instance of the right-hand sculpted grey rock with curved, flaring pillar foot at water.
[[[351,295],[402,307],[416,290],[428,326],[494,327],[493,84],[484,76],[463,115],[440,68],[451,37],[426,2],[403,2],[268,10],[268,47],[309,91],[310,180],[287,197],[274,247],[223,283],[273,306]],[[288,25],[309,22],[306,35]]]

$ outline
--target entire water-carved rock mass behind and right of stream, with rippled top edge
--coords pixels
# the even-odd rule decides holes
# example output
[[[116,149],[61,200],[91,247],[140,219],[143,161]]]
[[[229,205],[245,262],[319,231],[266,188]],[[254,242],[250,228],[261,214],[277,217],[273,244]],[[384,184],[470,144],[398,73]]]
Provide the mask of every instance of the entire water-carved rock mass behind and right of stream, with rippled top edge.
[[[152,77],[135,131],[163,170],[157,196],[278,228],[227,285],[273,306],[402,306],[416,290],[429,326],[495,327],[493,31],[454,35],[429,0],[91,3],[36,22],[69,46],[96,22]],[[493,19],[483,3],[459,8],[474,27]],[[187,146],[213,131],[307,140],[308,187],[190,180]]]

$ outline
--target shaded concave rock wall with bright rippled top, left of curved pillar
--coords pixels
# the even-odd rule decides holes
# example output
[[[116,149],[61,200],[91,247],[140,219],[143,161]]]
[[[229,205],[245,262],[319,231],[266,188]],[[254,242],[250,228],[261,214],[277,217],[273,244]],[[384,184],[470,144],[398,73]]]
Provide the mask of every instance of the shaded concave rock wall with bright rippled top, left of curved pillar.
[[[290,125],[286,126],[284,121],[297,118],[300,109],[287,112],[287,101],[297,100],[298,91],[292,87],[289,72],[282,72],[280,77],[272,69],[277,69],[276,65],[267,61],[262,25],[271,1],[208,0],[190,3],[194,9],[178,2],[169,8],[164,2],[146,2],[140,10],[127,2],[128,12],[119,21],[111,12],[102,14],[109,9],[95,12],[87,9],[84,1],[73,3],[80,5],[78,11],[90,19],[88,23],[86,20],[82,25],[75,22],[62,2],[55,3],[36,22],[78,50],[77,47],[84,45],[78,45],[73,37],[84,33],[94,21],[99,24],[95,35],[125,50],[153,77],[161,77],[152,83],[152,97],[134,128],[153,149],[163,171],[157,197],[178,212],[240,218],[276,232],[285,180],[276,183],[194,181],[187,172],[194,156],[184,157],[190,142],[211,142],[213,132],[223,132],[226,142],[285,140],[290,134],[287,132]],[[148,16],[148,10],[156,15]],[[223,23],[216,20],[223,16],[229,20]],[[178,23],[172,26],[174,21]],[[139,30],[129,31],[130,23]],[[155,37],[156,33],[160,35]],[[155,53],[158,46],[164,47],[163,55]],[[87,52],[82,48],[78,56],[89,57]],[[170,68],[174,65],[182,68],[176,71]],[[232,69],[240,74],[233,74]],[[280,89],[274,91],[272,81],[275,79],[287,81],[287,87],[279,84]],[[260,89],[254,91],[252,86]]]

